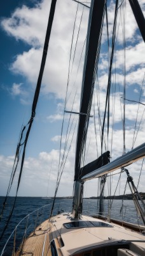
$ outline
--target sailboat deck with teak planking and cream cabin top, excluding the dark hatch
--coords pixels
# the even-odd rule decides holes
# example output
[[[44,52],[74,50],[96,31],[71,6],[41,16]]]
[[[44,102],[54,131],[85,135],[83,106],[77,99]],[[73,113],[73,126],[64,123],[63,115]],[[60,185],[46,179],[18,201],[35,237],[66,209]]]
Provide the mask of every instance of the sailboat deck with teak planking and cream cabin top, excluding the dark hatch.
[[[59,214],[50,221],[46,220],[36,228],[35,234],[31,234],[31,236],[26,239],[22,253],[34,256],[83,256],[86,252],[88,256],[119,255],[118,253],[110,254],[111,248],[116,248],[115,252],[117,252],[118,248],[121,248],[120,250],[123,250],[123,248],[128,250],[129,248],[129,250],[136,253],[134,255],[145,255],[145,237],[143,234],[90,216],[82,216],[80,221],[84,221],[84,223],[88,223],[87,221],[106,223],[107,227],[68,228],[64,223],[70,223],[69,225],[72,225],[74,220],[72,220],[71,214]],[[53,246],[51,245],[52,242]],[[55,247],[54,254],[51,252],[50,247]],[[109,251],[105,254],[94,254],[94,252],[99,253],[98,250],[100,250],[100,248],[102,248],[102,250],[109,248],[107,249],[107,251]],[[20,253],[20,250],[15,255],[18,255],[18,253]]]

